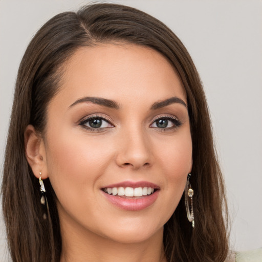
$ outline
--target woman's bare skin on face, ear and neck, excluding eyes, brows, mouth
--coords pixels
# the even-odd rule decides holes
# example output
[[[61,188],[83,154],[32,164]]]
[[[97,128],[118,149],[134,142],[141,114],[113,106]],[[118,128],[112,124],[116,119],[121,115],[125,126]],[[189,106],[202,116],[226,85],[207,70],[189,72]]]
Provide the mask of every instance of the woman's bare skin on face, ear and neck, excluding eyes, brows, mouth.
[[[129,44],[81,48],[63,66],[45,137],[31,125],[25,132],[35,176],[49,177],[57,195],[61,261],[165,261],[163,225],[182,197],[192,142],[186,105],[151,106],[171,97],[186,104],[179,77],[158,52]],[[83,97],[111,99],[119,109],[75,103]],[[89,116],[110,123],[92,131],[91,122],[80,124]],[[162,128],[159,117],[176,121]],[[101,188],[123,181],[158,185],[157,200],[138,211],[116,207]]]

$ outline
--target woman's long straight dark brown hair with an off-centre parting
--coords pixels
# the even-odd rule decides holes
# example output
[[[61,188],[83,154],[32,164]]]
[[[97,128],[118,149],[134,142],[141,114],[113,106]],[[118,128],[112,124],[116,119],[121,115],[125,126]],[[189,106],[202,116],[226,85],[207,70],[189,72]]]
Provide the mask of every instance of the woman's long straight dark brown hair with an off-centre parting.
[[[190,183],[195,228],[187,221],[184,197],[164,225],[168,261],[224,261],[228,253],[227,205],[217,163],[205,94],[192,59],[179,38],[161,21],[116,4],[85,6],[54,16],[36,33],[21,60],[6,146],[3,210],[15,262],[58,262],[61,235],[55,192],[45,180],[50,216],[42,219],[39,183],[25,156],[24,132],[32,124],[45,134],[46,110],[59,92],[62,65],[80,47],[121,41],[165,56],[183,83],[193,144]],[[223,219],[223,213],[226,215]]]

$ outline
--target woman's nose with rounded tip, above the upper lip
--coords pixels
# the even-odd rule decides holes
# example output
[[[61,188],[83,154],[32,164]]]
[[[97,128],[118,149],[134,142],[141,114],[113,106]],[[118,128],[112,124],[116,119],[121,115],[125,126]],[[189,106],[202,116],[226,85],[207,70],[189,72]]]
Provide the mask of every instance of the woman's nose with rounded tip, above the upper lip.
[[[118,166],[139,169],[152,164],[149,137],[141,129],[123,132],[118,138],[118,152],[116,156]]]

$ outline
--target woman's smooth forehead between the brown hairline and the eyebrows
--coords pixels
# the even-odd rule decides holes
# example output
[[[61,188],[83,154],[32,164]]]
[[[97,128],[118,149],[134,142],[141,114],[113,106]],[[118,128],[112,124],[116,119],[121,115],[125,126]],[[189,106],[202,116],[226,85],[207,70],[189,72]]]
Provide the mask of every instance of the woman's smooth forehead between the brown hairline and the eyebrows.
[[[84,96],[148,102],[186,94],[167,59],[155,50],[132,44],[101,44],[78,49],[65,62],[61,88],[53,100],[73,103]],[[52,103],[52,101],[51,101]]]

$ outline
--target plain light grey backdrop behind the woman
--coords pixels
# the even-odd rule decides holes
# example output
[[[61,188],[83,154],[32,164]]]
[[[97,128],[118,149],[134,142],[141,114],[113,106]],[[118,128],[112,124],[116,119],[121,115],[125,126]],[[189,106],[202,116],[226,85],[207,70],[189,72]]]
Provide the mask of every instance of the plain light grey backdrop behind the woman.
[[[262,247],[262,2],[116,2],[159,18],[187,47],[209,102],[227,186],[231,248]],[[30,39],[55,14],[76,10],[85,3],[88,1],[0,0],[1,166],[16,73]],[[4,261],[3,222],[0,228],[0,261]]]

